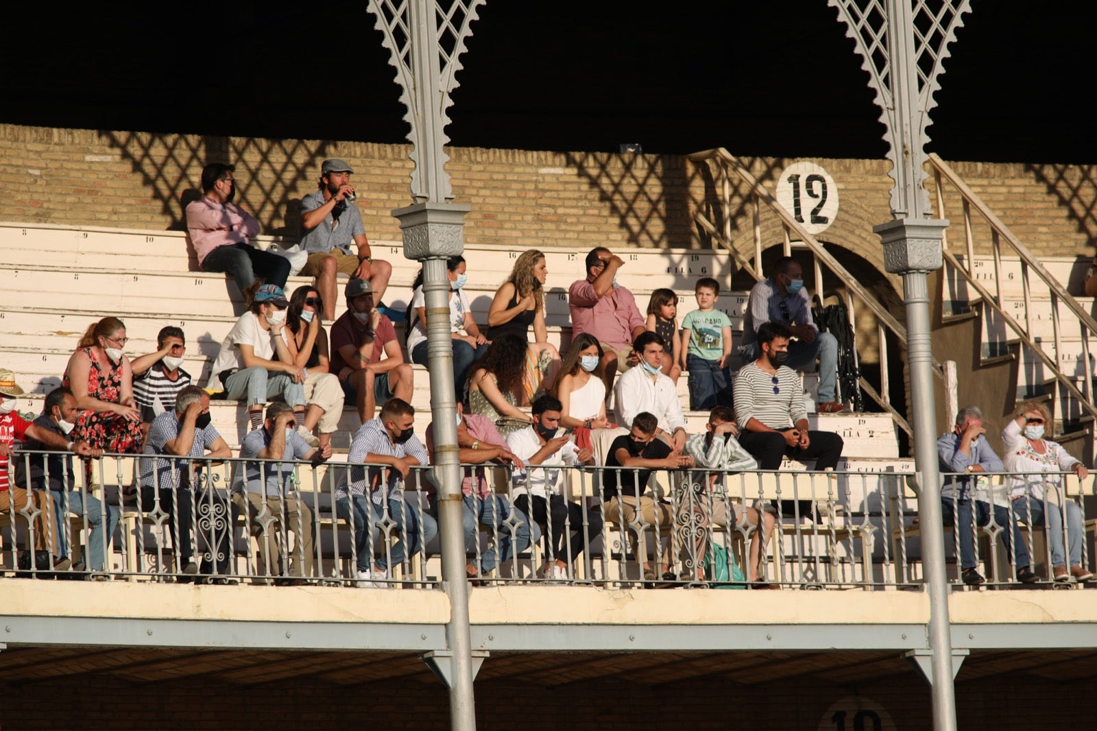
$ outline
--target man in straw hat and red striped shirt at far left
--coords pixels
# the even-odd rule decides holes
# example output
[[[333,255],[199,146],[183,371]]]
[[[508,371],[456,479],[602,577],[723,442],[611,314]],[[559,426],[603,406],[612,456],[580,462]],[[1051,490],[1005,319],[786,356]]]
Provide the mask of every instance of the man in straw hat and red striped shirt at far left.
[[[15,511],[30,513],[29,507],[37,505],[41,513],[34,526],[35,550],[57,552],[59,547],[54,543],[53,520],[49,518],[53,501],[48,496],[35,499],[30,491],[11,484],[8,458],[13,452],[15,440],[35,439],[50,449],[71,450],[81,457],[99,457],[102,452],[83,442],[73,443],[61,435],[24,419],[15,412],[18,396],[22,394],[23,390],[15,383],[15,374],[0,368],[0,514],[8,514],[9,518],[14,518]],[[53,567],[56,571],[65,571],[70,565],[68,559],[61,559],[56,561]]]

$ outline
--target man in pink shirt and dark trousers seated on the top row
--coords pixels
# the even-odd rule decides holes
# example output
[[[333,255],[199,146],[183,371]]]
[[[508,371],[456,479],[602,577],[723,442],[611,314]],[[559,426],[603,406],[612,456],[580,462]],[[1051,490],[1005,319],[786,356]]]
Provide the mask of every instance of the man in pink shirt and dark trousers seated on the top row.
[[[290,260],[251,246],[259,233],[255,216],[233,203],[236,194],[234,166],[211,162],[202,168],[202,198],[186,206],[186,230],[203,271],[233,275],[240,291],[256,278],[285,286]]]

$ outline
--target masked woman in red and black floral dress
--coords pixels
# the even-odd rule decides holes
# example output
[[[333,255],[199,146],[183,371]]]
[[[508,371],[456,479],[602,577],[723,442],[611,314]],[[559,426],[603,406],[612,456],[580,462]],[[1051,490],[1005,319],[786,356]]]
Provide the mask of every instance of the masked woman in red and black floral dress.
[[[140,412],[134,401],[133,370],[124,352],[128,340],[121,319],[104,317],[88,326],[77,344],[63,381],[80,409],[69,437],[72,441],[88,442],[104,452],[140,452]]]

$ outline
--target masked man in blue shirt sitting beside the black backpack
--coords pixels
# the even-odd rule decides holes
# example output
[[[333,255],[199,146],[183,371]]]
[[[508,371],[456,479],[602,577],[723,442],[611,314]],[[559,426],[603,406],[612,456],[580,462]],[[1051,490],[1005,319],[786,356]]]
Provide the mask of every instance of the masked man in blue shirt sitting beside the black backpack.
[[[829,333],[819,333],[815,327],[811,301],[804,289],[804,272],[800,262],[792,257],[778,259],[769,278],[750,290],[750,299],[743,313],[743,342],[739,346],[743,362],[755,360],[761,355],[758,328],[764,323],[780,323],[789,329],[790,337],[796,338],[789,344],[789,368],[803,370],[818,359],[819,413],[845,411],[845,405],[835,401],[838,340]]]

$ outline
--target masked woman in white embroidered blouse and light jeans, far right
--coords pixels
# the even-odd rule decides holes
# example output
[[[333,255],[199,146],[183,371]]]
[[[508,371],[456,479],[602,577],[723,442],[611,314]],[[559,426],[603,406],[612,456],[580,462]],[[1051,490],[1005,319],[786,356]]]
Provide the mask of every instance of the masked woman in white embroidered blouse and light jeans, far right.
[[[1017,418],[1002,430],[1002,439],[1006,442],[1003,460],[1006,472],[1021,473],[1009,479],[1014,514],[1030,526],[1042,522],[1047,528],[1052,573],[1056,582],[1068,582],[1072,576],[1079,582],[1089,581],[1094,575],[1082,565],[1082,541],[1085,540],[1082,508],[1063,493],[1062,475],[1058,474],[1074,472],[1079,480],[1085,480],[1089,473],[1062,446],[1043,438],[1051,425],[1051,413],[1047,406],[1029,401],[1021,404]],[[1050,488],[1047,502],[1045,488]],[[1056,503],[1064,504],[1066,509],[1070,572],[1063,550],[1063,513]]]

